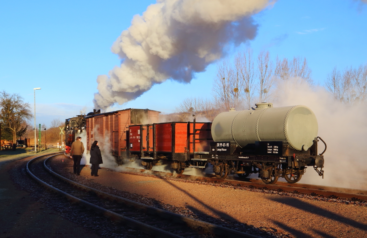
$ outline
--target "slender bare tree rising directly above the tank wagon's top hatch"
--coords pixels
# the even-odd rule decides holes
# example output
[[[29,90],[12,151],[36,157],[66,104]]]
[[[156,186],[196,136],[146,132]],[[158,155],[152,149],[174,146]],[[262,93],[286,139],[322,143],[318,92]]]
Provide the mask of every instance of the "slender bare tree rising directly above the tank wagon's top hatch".
[[[257,91],[260,102],[269,99],[270,89],[273,87],[273,63],[270,61],[269,51],[262,51],[257,58]]]

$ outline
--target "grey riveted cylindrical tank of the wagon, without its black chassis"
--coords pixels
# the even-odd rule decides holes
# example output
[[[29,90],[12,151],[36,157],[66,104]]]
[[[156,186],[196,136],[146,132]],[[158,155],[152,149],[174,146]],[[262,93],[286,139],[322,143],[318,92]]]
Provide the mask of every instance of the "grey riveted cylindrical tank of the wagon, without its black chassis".
[[[244,147],[256,141],[283,141],[295,150],[308,150],[317,136],[315,114],[304,105],[256,108],[218,114],[212,124],[214,141],[232,141]]]

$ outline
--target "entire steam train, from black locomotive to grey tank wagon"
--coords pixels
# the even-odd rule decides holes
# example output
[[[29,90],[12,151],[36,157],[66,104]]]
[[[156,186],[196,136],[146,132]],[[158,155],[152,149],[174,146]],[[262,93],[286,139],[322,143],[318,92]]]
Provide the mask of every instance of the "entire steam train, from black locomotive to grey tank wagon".
[[[323,177],[326,143],[317,136],[315,114],[302,105],[255,106],[220,113],[213,122],[196,122],[193,115],[193,122],[159,123],[160,112],[149,109],[94,110],[65,121],[66,152],[85,131],[87,151],[98,140],[117,163],[140,159],[148,170],[162,161],[169,161],[177,173],[212,164],[217,178],[257,173],[264,183],[274,184],[279,177],[296,183],[312,166]],[[324,150],[319,154],[320,140]]]

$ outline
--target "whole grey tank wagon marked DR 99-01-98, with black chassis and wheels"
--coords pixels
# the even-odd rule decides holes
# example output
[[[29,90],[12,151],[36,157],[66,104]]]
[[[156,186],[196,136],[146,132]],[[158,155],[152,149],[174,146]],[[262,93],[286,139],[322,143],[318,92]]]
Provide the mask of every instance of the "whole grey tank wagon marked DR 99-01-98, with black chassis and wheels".
[[[315,114],[306,106],[273,107],[257,103],[256,108],[218,114],[212,122],[209,157],[217,177],[228,173],[239,177],[258,173],[266,184],[278,177],[298,182],[306,166],[324,176],[326,143],[317,136]],[[317,154],[317,142],[325,149]]]

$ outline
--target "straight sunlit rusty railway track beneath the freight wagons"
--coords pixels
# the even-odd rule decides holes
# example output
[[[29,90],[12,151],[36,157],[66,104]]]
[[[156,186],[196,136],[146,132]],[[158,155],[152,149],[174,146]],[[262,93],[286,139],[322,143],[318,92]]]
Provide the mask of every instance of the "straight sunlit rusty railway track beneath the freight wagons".
[[[252,186],[255,188],[264,188],[269,190],[278,190],[278,191],[287,191],[293,193],[304,193],[310,195],[323,195],[327,197],[339,197],[339,198],[348,198],[354,200],[362,200],[367,201],[367,191],[352,189],[352,188],[340,188],[340,187],[329,187],[329,186],[319,186],[312,184],[302,184],[302,183],[286,183],[286,182],[277,182],[276,184],[264,184],[259,179],[246,179],[243,180],[233,180],[233,179],[218,179],[216,177],[211,177],[213,175],[207,176],[193,176],[193,175],[185,175],[185,174],[177,174],[177,173],[167,173],[161,171],[153,171],[146,169],[137,169],[137,168],[127,168],[130,172],[147,172],[152,175],[160,175],[160,176],[168,176],[168,177],[176,177],[181,179],[190,179],[190,180],[199,180],[203,182],[214,182],[214,183],[223,183],[226,185],[234,185],[234,186]]]

